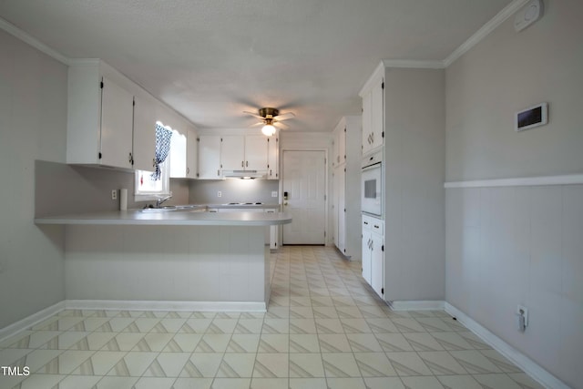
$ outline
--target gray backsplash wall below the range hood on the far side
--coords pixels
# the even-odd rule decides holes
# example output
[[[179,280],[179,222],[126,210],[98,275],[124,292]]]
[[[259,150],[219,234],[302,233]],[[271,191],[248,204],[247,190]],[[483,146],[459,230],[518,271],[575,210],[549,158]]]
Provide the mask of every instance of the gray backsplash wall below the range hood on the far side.
[[[224,204],[228,202],[255,202],[277,204],[278,197],[271,197],[275,191],[279,196],[277,179],[198,179],[189,181],[189,203]],[[221,192],[221,197],[217,192]]]

